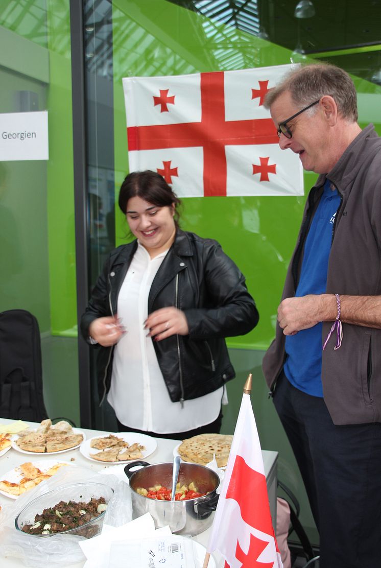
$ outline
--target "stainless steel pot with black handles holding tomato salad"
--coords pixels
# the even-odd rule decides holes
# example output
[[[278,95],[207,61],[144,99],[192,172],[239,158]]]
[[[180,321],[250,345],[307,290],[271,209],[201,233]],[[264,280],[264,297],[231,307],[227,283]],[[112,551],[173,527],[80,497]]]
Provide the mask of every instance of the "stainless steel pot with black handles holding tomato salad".
[[[141,469],[131,471],[137,465]],[[196,499],[183,501],[160,501],[150,499],[136,492],[138,487],[152,487],[164,485],[170,488],[172,482],[173,463],[154,463],[150,465],[144,461],[128,463],[125,474],[129,478],[129,486],[132,495],[133,519],[150,513],[155,521],[155,527],[169,525],[171,532],[175,534],[191,534],[195,536],[205,531],[212,524],[212,511],[215,510],[218,501],[216,489],[219,486],[218,475],[203,465],[196,463],[181,463],[178,481],[180,485],[195,483],[200,493],[208,493]]]

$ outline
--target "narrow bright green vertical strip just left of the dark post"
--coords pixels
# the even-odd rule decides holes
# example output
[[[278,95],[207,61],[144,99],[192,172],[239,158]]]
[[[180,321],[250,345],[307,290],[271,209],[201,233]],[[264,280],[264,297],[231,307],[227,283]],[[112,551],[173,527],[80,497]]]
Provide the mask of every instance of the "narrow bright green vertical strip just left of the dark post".
[[[77,335],[69,3],[48,2],[48,237],[52,335]],[[85,188],[83,188],[85,191]]]

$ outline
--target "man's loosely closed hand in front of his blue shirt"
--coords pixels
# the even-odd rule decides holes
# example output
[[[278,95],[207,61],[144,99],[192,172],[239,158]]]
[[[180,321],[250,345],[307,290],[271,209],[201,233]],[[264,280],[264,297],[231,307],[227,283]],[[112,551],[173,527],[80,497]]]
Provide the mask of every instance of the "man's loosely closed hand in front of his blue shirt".
[[[285,298],[278,307],[278,321],[284,335],[295,335],[319,321],[333,321],[336,318],[335,310],[336,299],[333,294]]]

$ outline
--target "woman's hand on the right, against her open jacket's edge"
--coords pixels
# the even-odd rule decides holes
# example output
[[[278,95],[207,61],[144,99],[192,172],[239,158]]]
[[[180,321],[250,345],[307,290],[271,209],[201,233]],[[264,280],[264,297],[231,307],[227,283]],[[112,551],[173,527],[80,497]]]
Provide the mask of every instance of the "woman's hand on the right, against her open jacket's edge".
[[[171,306],[161,308],[149,314],[144,322],[144,328],[148,329],[147,337],[153,337],[154,341],[161,341],[171,335],[188,335],[188,322],[184,312]]]

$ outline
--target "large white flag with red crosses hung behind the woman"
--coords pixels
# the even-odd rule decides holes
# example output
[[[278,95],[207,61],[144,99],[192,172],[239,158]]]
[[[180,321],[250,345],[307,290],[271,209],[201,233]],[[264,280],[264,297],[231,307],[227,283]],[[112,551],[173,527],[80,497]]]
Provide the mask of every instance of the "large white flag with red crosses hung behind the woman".
[[[263,107],[290,68],[123,78],[130,172],[160,173],[179,197],[303,195]]]

